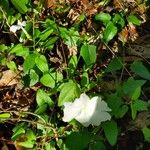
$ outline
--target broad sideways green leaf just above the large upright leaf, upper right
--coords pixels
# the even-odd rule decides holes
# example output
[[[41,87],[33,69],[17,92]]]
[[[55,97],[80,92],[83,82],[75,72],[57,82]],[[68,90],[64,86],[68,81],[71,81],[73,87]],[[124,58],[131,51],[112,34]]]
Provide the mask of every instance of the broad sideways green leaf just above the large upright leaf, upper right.
[[[99,13],[95,16],[96,20],[102,21],[105,25],[111,20],[111,16],[109,13]]]

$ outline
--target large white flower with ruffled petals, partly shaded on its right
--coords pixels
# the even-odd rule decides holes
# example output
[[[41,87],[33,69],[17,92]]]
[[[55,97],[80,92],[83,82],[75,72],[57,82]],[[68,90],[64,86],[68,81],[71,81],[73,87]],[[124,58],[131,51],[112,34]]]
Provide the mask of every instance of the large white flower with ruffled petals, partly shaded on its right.
[[[111,116],[107,111],[111,109],[107,106],[101,97],[95,96],[91,100],[85,94],[81,94],[80,98],[75,99],[74,102],[64,103],[64,122],[69,122],[76,119],[83,126],[87,127],[90,124],[98,126],[101,122],[110,120]]]

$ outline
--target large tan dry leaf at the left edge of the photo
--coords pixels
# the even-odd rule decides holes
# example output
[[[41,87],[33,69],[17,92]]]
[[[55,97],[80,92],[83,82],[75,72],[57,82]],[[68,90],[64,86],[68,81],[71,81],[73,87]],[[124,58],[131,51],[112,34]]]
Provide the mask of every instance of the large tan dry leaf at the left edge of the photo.
[[[2,72],[2,77],[0,78],[0,87],[11,86],[18,83],[17,73],[12,70],[6,70]]]

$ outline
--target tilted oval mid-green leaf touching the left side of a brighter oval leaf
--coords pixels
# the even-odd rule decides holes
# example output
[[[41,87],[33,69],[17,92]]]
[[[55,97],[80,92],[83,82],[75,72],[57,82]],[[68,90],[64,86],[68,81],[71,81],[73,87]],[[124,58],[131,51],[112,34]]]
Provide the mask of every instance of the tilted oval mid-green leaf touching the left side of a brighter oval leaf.
[[[23,64],[23,71],[25,74],[29,72],[30,69],[32,69],[35,66],[35,58],[37,57],[36,54],[30,54],[25,59]]]

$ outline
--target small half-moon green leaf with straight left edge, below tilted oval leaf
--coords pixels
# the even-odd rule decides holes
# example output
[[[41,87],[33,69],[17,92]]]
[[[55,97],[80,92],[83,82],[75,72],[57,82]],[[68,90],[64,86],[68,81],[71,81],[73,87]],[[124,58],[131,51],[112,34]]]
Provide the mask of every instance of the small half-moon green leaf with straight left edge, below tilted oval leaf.
[[[30,86],[35,85],[39,81],[39,76],[35,72],[35,70],[31,69],[30,70]]]

